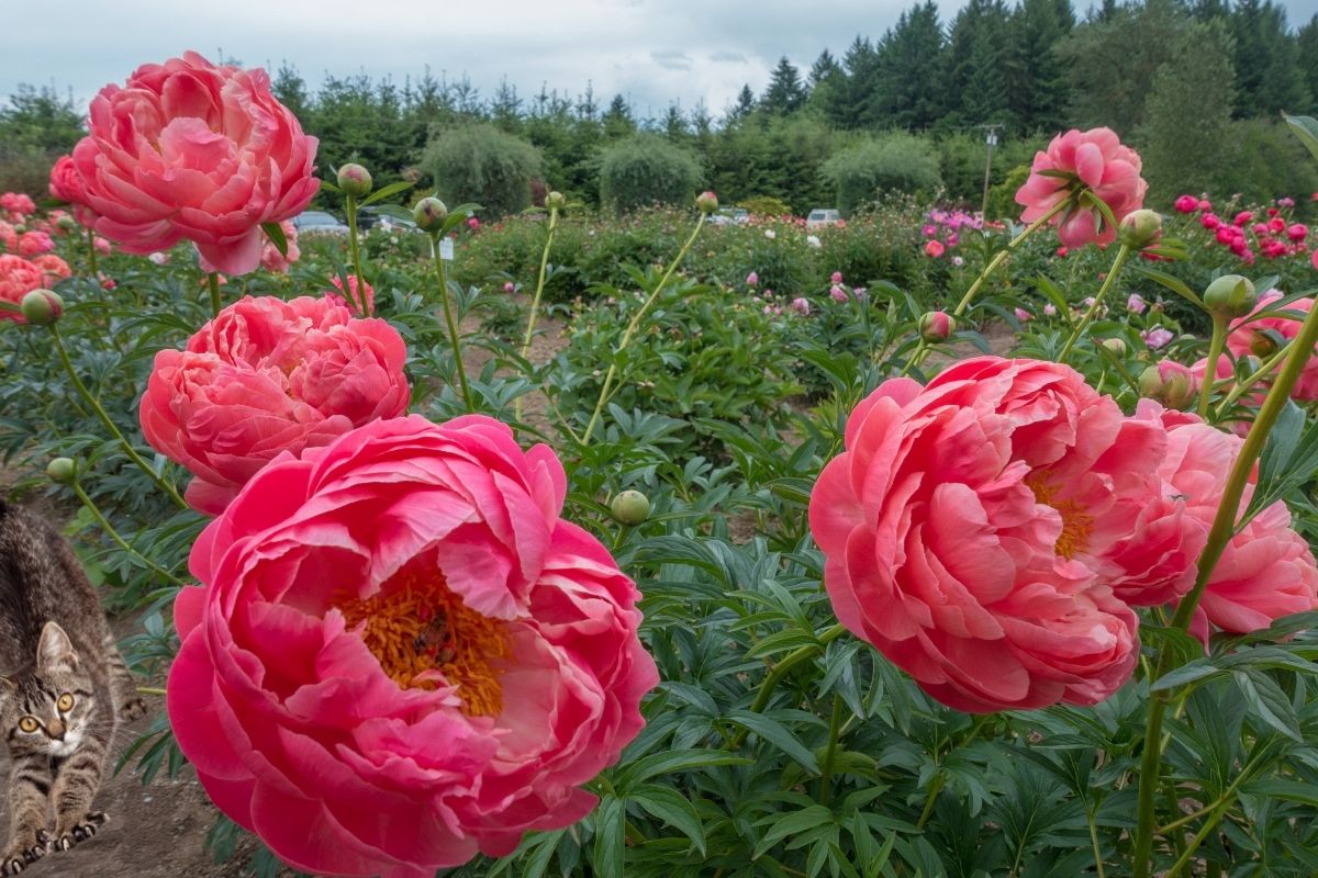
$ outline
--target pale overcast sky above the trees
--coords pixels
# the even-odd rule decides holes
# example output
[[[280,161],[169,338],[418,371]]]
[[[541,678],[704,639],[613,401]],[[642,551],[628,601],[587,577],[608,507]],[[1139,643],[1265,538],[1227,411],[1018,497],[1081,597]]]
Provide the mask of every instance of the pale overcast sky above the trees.
[[[482,97],[500,80],[601,104],[626,95],[639,117],[672,100],[720,116],[742,83],[757,93],[787,55],[803,74],[822,49],[879,37],[915,0],[5,0],[0,97],[18,83],[72,90],[79,104],[140,63],[195,49],[244,66],[290,62],[314,88],[327,72],[465,74]],[[965,0],[941,0],[949,21]],[[1083,13],[1087,0],[1073,0]],[[1292,25],[1318,0],[1286,0]]]

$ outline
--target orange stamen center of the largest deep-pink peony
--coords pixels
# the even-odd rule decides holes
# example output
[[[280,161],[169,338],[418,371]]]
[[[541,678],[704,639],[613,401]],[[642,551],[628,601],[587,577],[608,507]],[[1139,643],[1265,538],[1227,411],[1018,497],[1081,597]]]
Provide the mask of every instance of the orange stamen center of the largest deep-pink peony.
[[[471,609],[439,573],[405,573],[380,594],[337,608],[349,629],[361,625],[366,649],[399,686],[432,690],[447,682],[468,716],[503,710],[500,665],[511,656],[505,623]]]

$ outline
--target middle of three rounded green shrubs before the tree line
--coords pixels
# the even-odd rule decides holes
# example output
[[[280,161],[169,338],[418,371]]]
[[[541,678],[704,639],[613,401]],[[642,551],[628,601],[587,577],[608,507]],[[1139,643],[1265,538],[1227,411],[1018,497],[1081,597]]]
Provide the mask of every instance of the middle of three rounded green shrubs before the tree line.
[[[655,134],[637,134],[605,150],[600,163],[600,200],[627,213],[652,204],[685,204],[700,186],[691,153]]]

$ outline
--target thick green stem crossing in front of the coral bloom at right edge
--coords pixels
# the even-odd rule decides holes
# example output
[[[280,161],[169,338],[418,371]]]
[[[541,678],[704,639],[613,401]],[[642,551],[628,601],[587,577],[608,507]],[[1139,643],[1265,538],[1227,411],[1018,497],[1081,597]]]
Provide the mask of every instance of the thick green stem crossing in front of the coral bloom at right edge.
[[[1318,342],[1318,309],[1309,313],[1304,325],[1300,326],[1300,333],[1288,345],[1290,355],[1286,357],[1277,380],[1272,384],[1272,390],[1268,391],[1268,398],[1263,401],[1257,417],[1255,417],[1253,424],[1249,426],[1249,433],[1244,437],[1240,453],[1236,455],[1235,463],[1231,466],[1231,473],[1227,475],[1226,487],[1222,491],[1222,503],[1213,517],[1213,527],[1209,529],[1209,538],[1203,546],[1203,553],[1199,555],[1194,587],[1177,604],[1176,615],[1172,617],[1172,628],[1189,631],[1190,621],[1194,619],[1194,611],[1198,608],[1199,600],[1203,598],[1203,591],[1207,588],[1209,578],[1213,575],[1213,569],[1220,561],[1222,553],[1226,552],[1227,542],[1230,542],[1235,530],[1240,499],[1244,496],[1244,488],[1249,483],[1253,465],[1263,453],[1263,446],[1268,438],[1268,433],[1272,430],[1272,425],[1276,424],[1282,407],[1290,399],[1290,388],[1294,387],[1305,363],[1313,355],[1315,342]],[[1149,683],[1156,682],[1170,671],[1172,661],[1172,653],[1164,650],[1159,656],[1157,666],[1149,678]],[[1139,811],[1135,835],[1135,878],[1148,878],[1152,869],[1153,833],[1156,831],[1153,795],[1162,770],[1162,717],[1166,713],[1169,699],[1170,694],[1165,691],[1149,695],[1149,716],[1144,728],[1144,756],[1140,766]]]

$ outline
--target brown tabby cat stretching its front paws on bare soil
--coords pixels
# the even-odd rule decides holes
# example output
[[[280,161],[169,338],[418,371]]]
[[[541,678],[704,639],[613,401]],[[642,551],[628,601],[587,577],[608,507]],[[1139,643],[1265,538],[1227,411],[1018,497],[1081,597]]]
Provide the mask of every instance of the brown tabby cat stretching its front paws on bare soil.
[[[145,710],[69,542],[0,500],[0,737],[13,763],[0,875],[96,835],[115,729]]]

